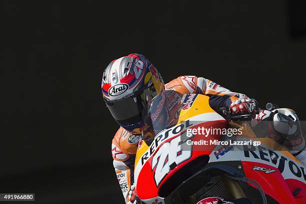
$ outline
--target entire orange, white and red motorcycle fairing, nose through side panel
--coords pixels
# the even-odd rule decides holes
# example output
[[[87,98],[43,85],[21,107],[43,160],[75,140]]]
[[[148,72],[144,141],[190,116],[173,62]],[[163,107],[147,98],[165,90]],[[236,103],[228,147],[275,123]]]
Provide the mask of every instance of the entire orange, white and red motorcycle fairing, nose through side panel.
[[[208,116],[209,118],[207,119]],[[189,107],[186,110],[181,110],[179,114],[179,121],[187,120],[204,121],[202,123],[195,124],[191,122],[192,126],[190,127],[192,128],[197,126],[209,127],[216,124],[219,124],[219,127],[226,126],[224,118],[215,113],[209,107],[208,97],[202,95],[195,97],[191,108]],[[179,125],[181,124],[178,122],[176,126],[171,128],[173,129]],[[165,131],[167,131],[167,129],[162,132]],[[244,171],[245,177],[257,180],[264,192],[273,197],[279,203],[306,203],[304,167],[288,151],[271,151],[268,147],[264,147],[266,142],[263,142],[262,145],[265,149],[258,149],[258,147],[255,147],[255,149],[245,151],[234,151],[234,149],[227,149],[227,146],[222,149],[222,152],[219,154],[218,158],[216,158],[214,152],[219,152],[218,150],[222,147],[220,145],[215,146],[215,148],[211,150],[206,149],[206,151],[192,151],[194,149],[194,146],[192,146],[192,149],[190,150],[190,157],[186,157],[186,160],[183,160],[178,164],[176,163],[173,166],[168,165],[165,175],[162,177],[159,183],[156,183],[156,181],[153,179],[156,167],[152,168],[152,158],[159,150],[162,150],[164,153],[170,153],[168,148],[160,149],[160,147],[166,142],[170,143],[171,140],[181,137],[183,133],[183,130],[178,134],[171,134],[170,132],[169,136],[164,141],[158,143],[157,147],[152,149],[152,145],[156,144],[155,141],[158,138],[158,134],[155,136],[155,140],[150,146],[146,145],[145,142],[141,142],[136,154],[134,179],[137,194],[145,203],[164,203],[164,197],[160,197],[158,195],[158,190],[162,184],[172,175],[174,175],[175,172],[177,172],[177,170],[179,170],[182,166],[191,162],[196,157],[200,157],[201,155],[209,155],[209,163],[206,166],[207,168],[213,165],[218,165],[220,167],[220,162],[223,163],[226,161],[235,164],[240,163],[240,165],[237,165],[237,168],[240,169],[240,171]],[[215,139],[215,135],[213,138]],[[194,141],[198,139],[203,138],[198,137],[197,135],[194,135],[191,138],[191,140]],[[141,160],[141,158],[143,158],[142,156],[146,153],[147,155],[145,159]],[[277,156],[275,154],[277,154]],[[158,161],[158,159],[155,159],[155,161]],[[163,165],[161,165],[161,167],[164,166],[167,166],[165,165],[165,162]],[[272,172],[265,173],[264,171],[254,170],[254,166],[258,167],[256,167],[256,169],[271,169]],[[223,167],[226,168],[226,165]],[[181,185],[183,185],[183,183]],[[282,190],[279,190],[278,188],[282,188]],[[295,193],[296,190],[299,190],[297,194]],[[295,195],[292,195],[294,193]]]

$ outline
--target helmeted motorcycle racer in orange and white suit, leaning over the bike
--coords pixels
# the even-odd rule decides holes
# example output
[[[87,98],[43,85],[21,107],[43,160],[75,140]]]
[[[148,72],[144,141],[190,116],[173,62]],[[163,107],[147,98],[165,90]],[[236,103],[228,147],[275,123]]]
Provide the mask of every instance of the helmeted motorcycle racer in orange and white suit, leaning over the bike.
[[[203,77],[180,76],[164,84],[156,68],[139,54],[130,54],[110,62],[103,72],[101,88],[107,108],[120,125],[112,139],[111,153],[126,203],[137,201],[133,170],[143,128],[141,111],[160,92],[175,90],[181,94],[203,94],[209,96],[209,105],[220,114],[220,108],[225,108],[237,115],[257,117],[254,100]],[[154,117],[160,117],[159,113],[157,110]],[[262,116],[261,119],[265,118]]]

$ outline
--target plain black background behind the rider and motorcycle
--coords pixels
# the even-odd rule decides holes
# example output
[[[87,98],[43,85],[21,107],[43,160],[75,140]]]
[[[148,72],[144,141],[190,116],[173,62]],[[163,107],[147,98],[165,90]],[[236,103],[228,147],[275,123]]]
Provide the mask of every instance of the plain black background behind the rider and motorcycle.
[[[123,203],[101,73],[129,53],[305,120],[302,1],[1,1],[0,192]]]

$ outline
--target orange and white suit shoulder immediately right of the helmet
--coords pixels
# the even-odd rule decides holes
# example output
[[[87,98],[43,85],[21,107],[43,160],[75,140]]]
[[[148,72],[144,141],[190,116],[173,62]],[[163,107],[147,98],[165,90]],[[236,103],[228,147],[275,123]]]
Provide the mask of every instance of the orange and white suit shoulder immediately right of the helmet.
[[[195,93],[197,90],[196,76],[179,76],[165,85],[166,89],[175,90],[182,94]]]

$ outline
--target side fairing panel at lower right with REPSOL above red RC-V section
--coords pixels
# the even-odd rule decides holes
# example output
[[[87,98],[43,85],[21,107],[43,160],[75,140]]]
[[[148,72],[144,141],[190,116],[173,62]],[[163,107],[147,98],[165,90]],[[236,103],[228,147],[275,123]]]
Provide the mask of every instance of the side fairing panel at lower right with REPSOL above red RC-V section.
[[[216,152],[219,153],[219,149],[226,151],[226,148],[230,150],[216,158]],[[306,201],[306,172],[304,166],[288,151],[273,151],[264,144],[252,146],[251,149],[245,147],[244,150],[232,145],[226,148],[217,146],[216,151],[212,151],[209,155],[208,164],[239,160],[245,172],[245,177],[256,180],[263,191],[279,203],[292,203],[292,200],[296,200],[296,203]],[[271,170],[270,172],[264,171],[266,169]],[[278,187],[275,188],[275,186]],[[293,196],[293,192],[298,188],[301,190]]]

